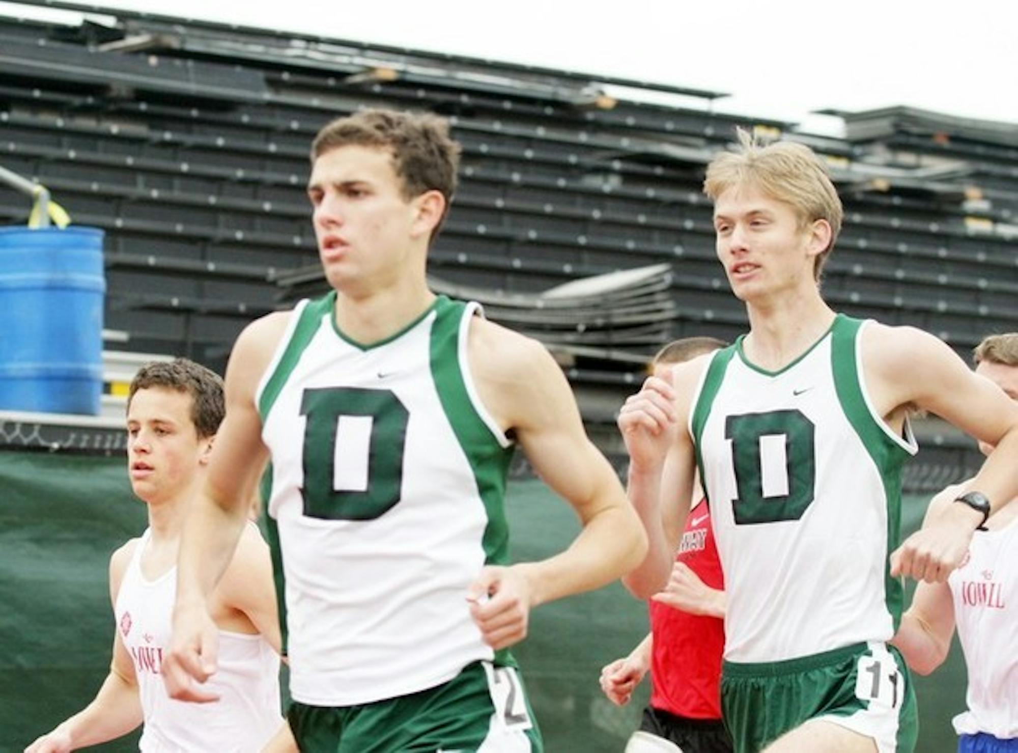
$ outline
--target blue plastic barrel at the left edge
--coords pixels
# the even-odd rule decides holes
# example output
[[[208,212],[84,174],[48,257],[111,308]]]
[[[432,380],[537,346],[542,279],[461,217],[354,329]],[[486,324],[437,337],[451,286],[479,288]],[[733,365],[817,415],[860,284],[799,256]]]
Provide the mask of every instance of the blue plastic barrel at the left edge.
[[[98,415],[103,231],[0,228],[0,409]]]

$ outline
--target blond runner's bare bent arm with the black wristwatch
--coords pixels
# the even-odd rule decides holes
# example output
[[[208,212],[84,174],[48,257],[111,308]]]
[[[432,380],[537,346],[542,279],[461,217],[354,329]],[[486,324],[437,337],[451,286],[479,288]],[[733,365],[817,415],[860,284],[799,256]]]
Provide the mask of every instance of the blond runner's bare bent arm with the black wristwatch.
[[[867,328],[863,355],[882,415],[894,424],[907,406],[918,406],[995,446],[970,488],[986,495],[995,512],[1018,496],[1018,403],[921,330]],[[980,521],[980,514],[964,505],[949,506],[894,553],[892,574],[944,582]]]

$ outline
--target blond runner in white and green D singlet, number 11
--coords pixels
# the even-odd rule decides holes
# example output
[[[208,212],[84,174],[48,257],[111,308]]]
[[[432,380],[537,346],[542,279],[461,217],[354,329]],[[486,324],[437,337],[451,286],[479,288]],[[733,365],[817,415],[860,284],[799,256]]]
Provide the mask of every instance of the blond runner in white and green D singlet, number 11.
[[[927,410],[995,445],[972,483],[999,510],[1018,496],[1018,405],[937,337],[831,309],[819,278],[843,209],[826,163],[801,143],[740,140],[704,191],[749,332],[648,379],[620,414],[651,543],[626,583],[646,597],[668,579],[661,471],[667,459],[688,489],[698,464],[728,593],[722,706],[736,751],[909,751],[914,693],[887,646],[898,576],[945,580],[983,513],[952,505],[898,545],[906,419]]]

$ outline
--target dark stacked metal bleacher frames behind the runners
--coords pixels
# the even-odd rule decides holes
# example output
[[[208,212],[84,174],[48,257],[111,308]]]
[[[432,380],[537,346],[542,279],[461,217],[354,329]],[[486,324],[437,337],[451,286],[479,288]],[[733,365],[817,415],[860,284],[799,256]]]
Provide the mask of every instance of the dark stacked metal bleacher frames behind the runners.
[[[374,105],[445,114],[463,143],[461,188],[430,258],[449,285],[536,295],[671,266],[667,328],[607,355],[562,359],[588,425],[616,457],[605,395],[621,400],[638,384],[640,360],[663,337],[730,339],[745,327],[699,191],[703,165],[735,126],[827,157],[846,207],[824,282],[835,307],[921,327],[963,354],[988,332],[1018,329],[1009,222],[1018,147],[995,124],[899,108],[839,113],[847,137],[818,137],[719,113],[716,92],[76,3],[23,5],[106,17],[0,18],[0,160],[47,184],[76,222],[106,230],[107,323],[129,333],[128,350],[222,368],[243,325],[285,304],[277,282],[317,262],[303,196],[312,136]],[[629,101],[612,85],[685,104]],[[22,221],[17,207],[0,200],[0,221]],[[924,451],[930,470],[913,487],[939,482],[938,468],[974,462],[957,435],[938,424],[928,432],[939,444]]]

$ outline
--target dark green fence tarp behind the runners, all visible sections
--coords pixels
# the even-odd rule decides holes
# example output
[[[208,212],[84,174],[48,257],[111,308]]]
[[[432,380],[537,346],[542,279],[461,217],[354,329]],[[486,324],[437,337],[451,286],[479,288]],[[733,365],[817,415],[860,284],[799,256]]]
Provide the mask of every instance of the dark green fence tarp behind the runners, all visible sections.
[[[906,504],[912,530],[924,500]],[[569,507],[540,481],[509,488],[512,552],[534,560],[578,530]],[[0,751],[20,751],[81,708],[109,667],[110,554],[145,528],[122,458],[0,452]],[[646,630],[646,610],[618,584],[546,604],[515,649],[550,753],[621,751],[639,720],[646,683],[630,705],[601,694],[601,667]],[[931,678],[918,678],[918,750],[953,751],[951,717],[964,706],[955,646]],[[137,750],[136,735],[94,750]]]

